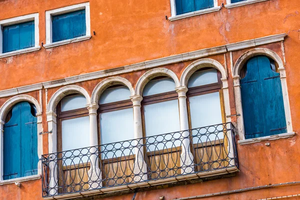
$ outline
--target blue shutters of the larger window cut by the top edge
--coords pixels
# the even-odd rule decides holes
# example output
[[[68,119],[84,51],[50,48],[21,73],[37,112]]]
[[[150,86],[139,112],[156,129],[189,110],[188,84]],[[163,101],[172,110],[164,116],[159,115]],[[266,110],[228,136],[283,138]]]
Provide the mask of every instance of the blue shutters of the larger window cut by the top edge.
[[[175,0],[176,15],[213,7],[213,0]]]

